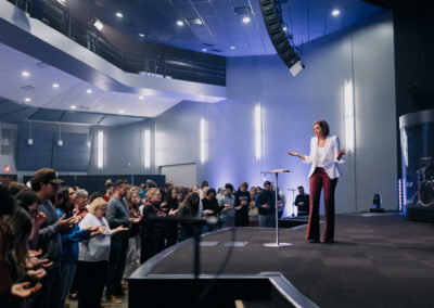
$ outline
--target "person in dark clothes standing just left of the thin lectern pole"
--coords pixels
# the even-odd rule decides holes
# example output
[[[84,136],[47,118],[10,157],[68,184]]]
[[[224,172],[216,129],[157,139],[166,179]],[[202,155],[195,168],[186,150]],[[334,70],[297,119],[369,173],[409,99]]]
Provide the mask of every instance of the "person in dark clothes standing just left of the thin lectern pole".
[[[255,205],[259,213],[259,227],[276,227],[276,195],[271,191],[270,181],[264,182],[264,189],[256,196]]]

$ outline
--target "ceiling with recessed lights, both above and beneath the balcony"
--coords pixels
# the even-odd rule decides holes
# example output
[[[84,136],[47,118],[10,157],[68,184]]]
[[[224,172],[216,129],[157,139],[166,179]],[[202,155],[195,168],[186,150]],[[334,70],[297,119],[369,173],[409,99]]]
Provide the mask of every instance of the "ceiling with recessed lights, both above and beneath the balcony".
[[[69,0],[67,5],[84,23],[98,17],[104,24],[101,35],[123,50],[137,50],[141,41],[151,41],[194,51],[206,48],[206,52],[224,56],[276,53],[258,0]],[[244,8],[247,13],[235,14],[237,8]],[[340,15],[332,16],[334,9],[341,11]],[[359,0],[291,0],[282,3],[283,21],[293,36],[293,43],[298,47],[383,11]],[[124,16],[117,17],[116,12]],[[242,17],[246,15],[251,22],[244,24]],[[177,26],[177,21],[186,22],[187,18],[200,18],[203,24]],[[179,98],[155,93],[139,95],[101,89],[2,42],[0,54],[0,97],[20,102],[16,106],[11,105],[11,111],[2,103],[0,119],[18,115],[38,117],[47,113],[43,120],[91,125],[105,120],[116,125],[125,123],[122,118],[127,115],[142,119],[155,117],[180,102]],[[22,76],[23,70],[30,75]],[[53,84],[59,87],[54,88]],[[80,112],[90,114],[85,119]]]

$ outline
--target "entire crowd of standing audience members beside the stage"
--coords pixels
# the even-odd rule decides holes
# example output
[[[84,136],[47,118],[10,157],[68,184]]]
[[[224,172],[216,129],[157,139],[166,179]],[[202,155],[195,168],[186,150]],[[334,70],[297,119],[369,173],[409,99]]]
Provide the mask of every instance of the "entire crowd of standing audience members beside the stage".
[[[270,182],[250,191],[243,182],[235,193],[227,183],[217,195],[207,181],[200,188],[168,182],[163,190],[152,180],[140,187],[107,180],[105,194],[90,196],[62,183],[54,169],[43,168],[30,179],[31,189],[18,182],[0,185],[1,307],[65,307],[74,278],[79,307],[100,307],[104,287],[110,303],[122,303],[123,278],[140,262],[218,228],[180,219],[216,217],[221,228],[272,227],[275,221]]]

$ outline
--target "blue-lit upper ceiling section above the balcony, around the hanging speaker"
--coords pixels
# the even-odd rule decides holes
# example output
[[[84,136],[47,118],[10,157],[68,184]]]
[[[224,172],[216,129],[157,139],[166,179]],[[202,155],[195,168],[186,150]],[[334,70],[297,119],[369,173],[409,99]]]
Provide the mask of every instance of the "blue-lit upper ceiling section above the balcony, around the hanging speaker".
[[[319,37],[366,21],[384,9],[361,0],[290,0],[282,1],[282,17],[302,46]],[[71,13],[84,23],[91,17],[104,27],[101,35],[124,48],[151,41],[224,56],[275,54],[258,0],[74,0],[67,2]],[[235,10],[247,11],[235,14]],[[337,16],[333,10],[340,10]],[[123,17],[117,17],[120,12]],[[248,16],[245,24],[242,18]],[[189,25],[188,18],[203,24]],[[177,21],[184,22],[178,26]],[[140,36],[142,34],[142,36]],[[231,49],[234,47],[234,49]]]

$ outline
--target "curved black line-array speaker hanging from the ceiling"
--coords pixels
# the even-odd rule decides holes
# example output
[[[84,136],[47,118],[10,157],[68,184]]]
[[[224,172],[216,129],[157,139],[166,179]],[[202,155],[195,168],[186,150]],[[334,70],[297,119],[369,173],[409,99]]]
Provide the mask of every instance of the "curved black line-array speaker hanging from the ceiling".
[[[290,44],[288,36],[282,28],[283,21],[279,13],[276,0],[259,0],[260,11],[268,35],[279,56],[290,68],[293,76],[297,75],[305,65]]]

